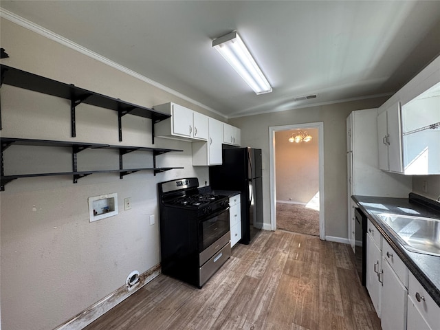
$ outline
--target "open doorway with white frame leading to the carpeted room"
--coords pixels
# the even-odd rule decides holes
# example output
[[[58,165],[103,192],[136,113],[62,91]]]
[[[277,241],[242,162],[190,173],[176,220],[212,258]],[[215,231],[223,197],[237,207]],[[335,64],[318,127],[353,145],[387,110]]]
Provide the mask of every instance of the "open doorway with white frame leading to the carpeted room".
[[[325,239],[323,123],[269,129],[272,230],[302,232]]]

